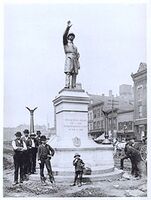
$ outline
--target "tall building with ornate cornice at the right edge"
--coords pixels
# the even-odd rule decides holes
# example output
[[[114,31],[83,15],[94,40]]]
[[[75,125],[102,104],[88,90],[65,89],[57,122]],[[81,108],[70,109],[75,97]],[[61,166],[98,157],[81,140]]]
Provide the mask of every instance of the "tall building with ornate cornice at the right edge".
[[[138,140],[147,137],[147,65],[140,63],[134,82],[134,131]]]

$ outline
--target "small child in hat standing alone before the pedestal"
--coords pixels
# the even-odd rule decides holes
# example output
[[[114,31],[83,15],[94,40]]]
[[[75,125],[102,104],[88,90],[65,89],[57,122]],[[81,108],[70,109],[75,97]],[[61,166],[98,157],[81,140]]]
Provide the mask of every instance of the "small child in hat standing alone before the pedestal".
[[[83,169],[84,169],[84,162],[80,158],[80,155],[78,153],[75,154],[74,160],[73,160],[73,165],[75,166],[75,177],[74,177],[74,183],[71,186],[75,186],[76,182],[79,177],[79,187],[82,186],[82,175],[83,175]]]

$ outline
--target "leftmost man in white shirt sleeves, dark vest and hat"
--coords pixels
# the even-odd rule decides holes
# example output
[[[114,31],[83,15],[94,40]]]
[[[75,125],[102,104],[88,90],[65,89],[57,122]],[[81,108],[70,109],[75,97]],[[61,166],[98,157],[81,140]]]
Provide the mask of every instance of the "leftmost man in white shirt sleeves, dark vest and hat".
[[[27,150],[25,142],[21,139],[21,132],[15,133],[16,139],[12,141],[14,150],[14,185],[18,184],[18,173],[20,170],[20,183],[23,183],[23,152]]]

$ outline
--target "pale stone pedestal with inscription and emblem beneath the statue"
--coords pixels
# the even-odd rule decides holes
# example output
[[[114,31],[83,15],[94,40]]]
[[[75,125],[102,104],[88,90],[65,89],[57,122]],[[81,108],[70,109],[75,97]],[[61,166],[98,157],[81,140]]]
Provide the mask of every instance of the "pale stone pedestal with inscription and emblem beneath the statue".
[[[73,158],[79,153],[90,167],[92,175],[114,171],[112,145],[96,144],[88,137],[89,97],[82,89],[63,89],[53,100],[55,108],[56,137],[50,139],[55,148],[52,159],[56,175],[70,176],[74,173]]]

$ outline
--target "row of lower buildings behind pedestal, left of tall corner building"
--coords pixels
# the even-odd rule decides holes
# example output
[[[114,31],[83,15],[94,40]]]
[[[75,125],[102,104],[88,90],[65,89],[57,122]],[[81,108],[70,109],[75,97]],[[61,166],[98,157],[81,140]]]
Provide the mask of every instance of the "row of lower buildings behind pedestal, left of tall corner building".
[[[124,85],[125,86],[125,85]],[[128,88],[128,89],[127,89]],[[109,90],[109,96],[103,95],[89,95],[90,104],[88,108],[88,131],[89,135],[94,138],[100,136],[105,131],[108,132],[109,137],[128,138],[131,134],[134,134],[133,126],[133,104],[127,99],[132,99],[132,89],[127,87],[122,89],[122,95],[127,98],[121,98],[120,96],[113,96],[112,91]],[[124,93],[126,91],[126,93]],[[105,118],[103,111],[107,113]],[[118,117],[119,115],[119,117]],[[131,127],[130,127],[131,124]],[[123,127],[127,127],[128,130],[124,130]]]

